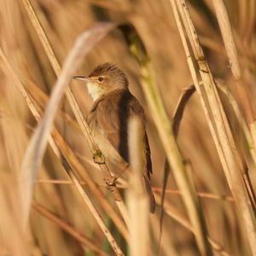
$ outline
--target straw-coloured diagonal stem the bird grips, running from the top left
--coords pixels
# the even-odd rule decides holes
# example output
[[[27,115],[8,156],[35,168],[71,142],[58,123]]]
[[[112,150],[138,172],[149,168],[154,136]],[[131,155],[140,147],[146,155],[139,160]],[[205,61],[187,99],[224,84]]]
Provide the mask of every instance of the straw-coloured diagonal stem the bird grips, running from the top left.
[[[49,44],[49,40],[44,32],[43,26],[41,26],[38,16],[36,15],[36,13],[32,7],[32,3],[30,0],[23,0],[22,3],[26,9],[27,15],[29,16],[30,20],[32,21],[32,25],[34,26],[35,31],[38,33],[38,38],[40,39],[40,41],[43,45],[44,51],[49,58],[49,62],[51,63],[51,66],[53,67],[56,76],[59,77],[59,75],[61,73],[61,65],[59,64],[59,62],[57,61],[57,59],[55,57],[54,51]],[[111,30],[114,27],[113,24],[112,25],[107,24],[106,26],[109,26],[109,30]],[[78,104],[78,102],[76,102],[75,96],[73,95],[73,92],[70,88],[67,89],[66,93],[67,93],[67,100],[68,100],[71,108],[73,109],[73,113],[74,113],[76,119],[79,122],[79,126],[80,126],[81,130],[83,131],[84,137],[90,146],[90,150],[91,150],[92,154],[94,154],[94,153],[96,153],[96,144],[94,143],[92,137],[90,137],[89,127],[84,120],[84,115],[81,112],[81,109],[79,108],[79,104]],[[108,170],[108,166],[106,164],[99,165],[99,166],[105,176],[106,182],[110,183],[112,181],[112,176]],[[127,211],[125,208],[125,204],[122,201],[122,197],[119,194],[119,190],[117,189],[117,187],[115,185],[113,185],[110,191],[112,192],[113,198],[115,199],[117,206],[119,207],[119,211],[121,212],[122,217],[125,219],[125,223],[128,224]]]

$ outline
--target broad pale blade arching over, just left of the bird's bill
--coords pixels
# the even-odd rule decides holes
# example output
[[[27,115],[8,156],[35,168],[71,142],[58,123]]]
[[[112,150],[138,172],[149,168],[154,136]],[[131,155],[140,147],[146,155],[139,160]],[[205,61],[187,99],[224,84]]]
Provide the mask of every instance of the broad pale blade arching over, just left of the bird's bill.
[[[22,184],[24,181],[24,183],[29,184],[29,187],[25,190],[26,192],[24,191],[24,193],[20,195],[22,196],[23,201],[22,216],[25,224],[27,222],[29,208],[31,205],[33,183],[44,156],[49,132],[51,130],[59,102],[61,101],[61,96],[64,94],[70,79],[72,79],[76,70],[82,64],[84,56],[112,28],[112,24],[105,23],[98,24],[84,32],[77,39],[71,53],[67,57],[67,61],[64,63],[60,78],[55,84],[55,88],[49,99],[49,104],[45,109],[44,117],[32,136],[21,167],[20,183]]]

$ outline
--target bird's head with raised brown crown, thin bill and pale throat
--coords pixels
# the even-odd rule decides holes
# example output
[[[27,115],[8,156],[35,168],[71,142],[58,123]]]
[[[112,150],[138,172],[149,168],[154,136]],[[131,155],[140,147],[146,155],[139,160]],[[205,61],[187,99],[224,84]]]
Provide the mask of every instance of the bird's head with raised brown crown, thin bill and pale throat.
[[[73,79],[84,80],[93,101],[113,90],[128,89],[125,73],[111,63],[97,66],[89,76],[75,76]]]

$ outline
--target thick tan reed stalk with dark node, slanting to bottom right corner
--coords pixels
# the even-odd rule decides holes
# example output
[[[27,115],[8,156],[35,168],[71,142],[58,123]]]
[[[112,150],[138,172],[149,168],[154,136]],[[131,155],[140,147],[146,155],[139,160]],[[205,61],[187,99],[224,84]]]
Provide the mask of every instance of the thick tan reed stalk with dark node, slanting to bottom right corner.
[[[241,213],[241,218],[247,230],[247,239],[250,243],[250,247],[254,255],[256,253],[256,245],[254,242],[256,241],[256,233],[253,224],[253,215],[251,214],[251,209],[249,208],[249,205],[247,203],[247,192],[241,179],[241,159],[236,151],[236,146],[230,132],[230,127],[224,115],[224,110],[218,97],[216,85],[212,79],[212,73],[207,65],[207,61],[204,58],[197,32],[195,31],[195,27],[189,15],[189,9],[187,7],[187,4],[185,1],[181,0],[177,1],[177,6],[183,18],[183,23],[186,24],[185,28],[187,29],[189,42],[190,44],[194,45],[193,49],[195,59],[198,61],[201,79],[203,81],[204,89],[206,91],[206,96],[201,98],[201,102],[204,102],[204,108],[207,106],[207,113],[212,113],[213,118],[209,123],[210,128],[212,126],[211,123],[214,124],[214,130],[211,129],[211,131],[213,131],[212,134],[214,142],[216,143],[218,141],[218,143],[216,143],[216,146],[218,148],[218,153],[220,153],[220,160],[224,166],[224,173],[236,201],[237,208]],[[177,20],[177,23],[180,23],[180,20],[177,17],[176,3],[174,1],[172,1],[172,9],[176,13],[175,18]],[[183,38],[183,46],[186,50],[186,55],[190,55],[189,51],[187,52],[188,46],[186,39],[184,38],[183,27],[181,25],[178,25],[178,27],[179,32]],[[195,68],[191,61],[189,61],[189,69],[194,79]],[[198,80],[195,79],[196,90],[201,92],[201,88],[198,85]],[[199,95],[201,97],[201,93]]]

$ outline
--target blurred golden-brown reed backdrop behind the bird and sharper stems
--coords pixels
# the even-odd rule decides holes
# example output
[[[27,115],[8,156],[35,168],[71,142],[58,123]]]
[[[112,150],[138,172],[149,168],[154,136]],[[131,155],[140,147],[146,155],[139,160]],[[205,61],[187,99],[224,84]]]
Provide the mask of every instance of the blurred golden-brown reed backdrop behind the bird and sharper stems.
[[[154,67],[154,78],[165,104],[166,112],[170,120],[172,119],[181,91],[193,82],[169,1],[32,0],[31,2],[49,38],[57,60],[61,64],[79,34],[93,26],[96,21],[109,20],[131,23],[137,29],[148,51],[148,56]],[[226,0],[224,3],[236,39],[243,83],[246,84],[253,103],[256,93],[254,86],[256,81],[256,1]],[[212,1],[190,0],[188,4],[214,77],[223,79],[225,86],[236,97],[236,90],[234,90]],[[56,76],[26,9],[22,1],[1,0],[0,13],[1,48],[20,81],[25,84],[36,102],[44,108],[55,84]],[[125,43],[124,35],[118,29],[108,34],[99,44],[96,44],[96,47],[87,55],[83,67],[77,74],[89,74],[94,67],[105,61],[113,62],[125,71],[130,81],[131,92],[145,109],[154,170],[151,183],[155,193],[160,194],[165,153],[143,96],[139,66]],[[3,68],[0,70],[0,78],[1,186],[3,189],[11,190],[12,175],[20,172],[26,145],[37,122],[27,108],[20,90],[17,90],[14,79],[7,76],[3,72]],[[86,116],[92,101],[84,84],[72,82],[70,86],[83,109],[84,116]],[[252,105],[255,112],[256,106],[254,103]],[[72,121],[68,121],[65,114],[69,115]],[[104,188],[102,172],[93,163],[89,147],[74,120],[67,99],[63,98],[55,125],[83,164],[84,170],[90,172],[90,176],[99,184],[113,208],[116,208],[111,194]],[[232,117],[230,117],[231,121]],[[237,130],[237,137],[239,134],[240,131]],[[241,233],[241,223],[236,216],[230,189],[196,94],[191,97],[186,106],[177,143],[183,158],[192,163],[197,191],[208,193],[207,195],[221,195],[216,198],[200,197],[209,236],[228,253],[222,255],[249,255],[247,241]],[[252,170],[250,176],[255,181],[254,167]],[[73,188],[73,185],[47,182],[56,179],[68,180],[68,177],[60,160],[55,157],[52,149],[48,148],[44,155],[44,163],[38,172],[38,182],[35,183],[34,201],[54,212],[55,215],[70,224],[74,230],[91,239],[102,251],[108,255],[114,255],[112,248],[102,234],[102,230],[99,229],[90,211],[84,207],[80,195]],[[175,193],[177,186],[172,177],[172,170],[167,189],[170,191],[166,193],[166,201],[177,211],[178,216],[187,219],[180,195]],[[93,195],[91,196],[93,197]],[[13,213],[9,212],[9,214]],[[114,226],[108,214],[102,212],[102,217],[126,255],[127,245],[120,236],[119,230]],[[156,214],[150,216],[150,244],[153,255],[157,252],[160,231],[159,219],[160,207],[157,207]],[[36,207],[32,207],[30,216],[29,252],[31,255],[97,254],[70,236],[65,230],[61,230],[58,224],[53,223],[38,212]],[[198,255],[198,253],[195,237],[191,231],[165,214],[161,255]],[[214,255],[221,255],[221,253],[223,252],[214,251]]]

